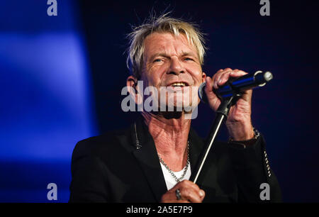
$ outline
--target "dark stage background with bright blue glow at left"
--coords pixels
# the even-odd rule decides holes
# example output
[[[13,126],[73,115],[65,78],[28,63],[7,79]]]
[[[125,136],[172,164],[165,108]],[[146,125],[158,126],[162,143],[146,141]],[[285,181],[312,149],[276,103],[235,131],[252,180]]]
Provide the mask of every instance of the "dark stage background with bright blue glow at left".
[[[130,24],[152,9],[194,21],[207,33],[206,74],[269,70],[253,93],[252,121],[267,140],[285,202],[319,202],[318,1],[0,1],[0,201],[47,202],[47,184],[68,201],[77,141],[126,128],[121,110]],[[213,111],[193,126],[206,136]],[[218,137],[226,140],[225,128]]]

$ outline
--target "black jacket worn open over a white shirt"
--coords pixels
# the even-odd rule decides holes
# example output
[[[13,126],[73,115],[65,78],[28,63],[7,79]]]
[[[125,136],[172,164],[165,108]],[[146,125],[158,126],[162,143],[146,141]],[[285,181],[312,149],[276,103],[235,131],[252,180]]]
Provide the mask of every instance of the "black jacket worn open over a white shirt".
[[[128,130],[88,138],[77,143],[72,155],[69,202],[159,202],[167,187],[154,140],[147,126],[136,122]],[[203,140],[189,133],[191,172]],[[270,186],[270,201],[281,201],[274,172],[269,168],[262,136],[243,148],[216,143],[208,155],[198,186],[206,192],[203,202],[262,202],[260,184]]]

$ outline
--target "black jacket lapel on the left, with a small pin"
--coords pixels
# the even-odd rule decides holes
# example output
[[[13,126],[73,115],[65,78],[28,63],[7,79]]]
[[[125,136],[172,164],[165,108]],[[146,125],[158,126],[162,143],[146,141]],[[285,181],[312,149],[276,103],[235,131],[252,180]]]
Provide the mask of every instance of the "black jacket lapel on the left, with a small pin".
[[[152,189],[157,202],[161,201],[162,195],[167,192],[165,179],[162,173],[162,168],[159,165],[159,159],[157,156],[157,150],[155,148],[154,140],[148,132],[146,126],[143,126],[142,120],[136,121],[135,126],[131,128],[132,139],[135,143],[135,150],[133,155],[138,160],[142,171],[145,174],[145,178]],[[138,135],[139,144],[136,144],[136,134]]]

